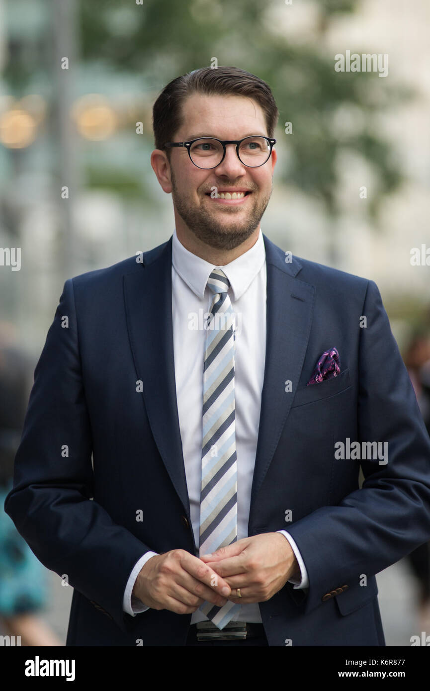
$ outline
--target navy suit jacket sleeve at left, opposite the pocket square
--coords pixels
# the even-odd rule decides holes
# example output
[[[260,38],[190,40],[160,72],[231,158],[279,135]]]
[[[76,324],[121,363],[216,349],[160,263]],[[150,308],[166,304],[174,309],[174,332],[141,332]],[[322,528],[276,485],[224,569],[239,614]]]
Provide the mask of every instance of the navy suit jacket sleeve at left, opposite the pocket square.
[[[68,325],[66,326],[66,319]],[[127,631],[124,589],[148,545],[93,497],[91,424],[80,367],[73,279],[35,368],[5,511],[37,558]]]

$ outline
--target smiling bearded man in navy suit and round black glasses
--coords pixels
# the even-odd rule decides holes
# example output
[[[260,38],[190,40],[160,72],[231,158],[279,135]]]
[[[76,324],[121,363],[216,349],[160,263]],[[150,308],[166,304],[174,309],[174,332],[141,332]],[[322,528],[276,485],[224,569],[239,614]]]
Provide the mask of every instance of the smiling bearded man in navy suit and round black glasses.
[[[430,439],[377,286],[261,231],[278,115],[244,70],[174,79],[151,155],[173,236],[64,284],[5,509],[74,588],[67,645],[383,646],[375,574],[430,538]],[[228,381],[205,350],[221,294]],[[214,355],[234,463],[208,491],[234,470],[212,515],[234,537],[206,554]],[[240,607],[215,625],[205,603]]]

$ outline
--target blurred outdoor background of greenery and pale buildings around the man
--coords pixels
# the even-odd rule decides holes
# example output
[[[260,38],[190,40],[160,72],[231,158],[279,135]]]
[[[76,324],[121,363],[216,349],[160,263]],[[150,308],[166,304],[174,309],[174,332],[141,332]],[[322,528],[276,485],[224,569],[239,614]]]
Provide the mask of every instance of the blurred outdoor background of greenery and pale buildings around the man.
[[[203,66],[270,84],[281,115],[261,228],[377,283],[430,430],[429,28],[427,0],[0,0],[3,497],[64,281],[174,230],[151,108]],[[388,74],[337,72],[346,50],[388,55]],[[0,512],[0,633],[64,645],[72,589]],[[428,545],[377,582],[387,645],[430,634]]]

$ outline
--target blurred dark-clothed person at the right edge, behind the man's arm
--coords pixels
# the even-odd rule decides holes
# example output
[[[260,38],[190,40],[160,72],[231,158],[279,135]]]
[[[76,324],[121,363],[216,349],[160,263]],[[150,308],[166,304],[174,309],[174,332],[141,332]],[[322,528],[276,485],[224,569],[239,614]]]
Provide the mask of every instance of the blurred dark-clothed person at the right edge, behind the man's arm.
[[[404,364],[417,397],[422,419],[430,435],[430,333],[412,334],[404,355]],[[430,545],[424,542],[407,557],[418,580],[420,629],[430,630]]]

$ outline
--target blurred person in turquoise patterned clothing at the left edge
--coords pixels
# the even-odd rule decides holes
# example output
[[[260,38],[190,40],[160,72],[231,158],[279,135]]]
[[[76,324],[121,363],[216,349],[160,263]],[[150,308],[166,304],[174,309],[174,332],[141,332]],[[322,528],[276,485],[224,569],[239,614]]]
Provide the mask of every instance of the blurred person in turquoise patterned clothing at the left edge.
[[[3,511],[29,395],[30,362],[14,342],[13,325],[0,322],[0,627],[21,636],[21,645],[62,645],[38,616],[46,605],[46,569]]]

